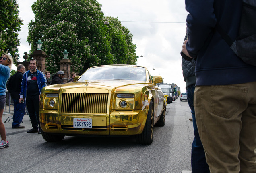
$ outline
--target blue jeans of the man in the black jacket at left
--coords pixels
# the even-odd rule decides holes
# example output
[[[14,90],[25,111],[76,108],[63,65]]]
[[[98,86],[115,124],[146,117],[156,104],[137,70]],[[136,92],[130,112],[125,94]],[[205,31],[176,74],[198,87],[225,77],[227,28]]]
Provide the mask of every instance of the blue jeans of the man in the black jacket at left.
[[[13,107],[14,107],[14,113],[13,113],[13,122],[12,122],[12,128],[18,127],[21,124],[21,121],[24,117],[25,108],[26,108],[26,101],[24,103],[19,103],[18,99],[12,99],[13,100]]]

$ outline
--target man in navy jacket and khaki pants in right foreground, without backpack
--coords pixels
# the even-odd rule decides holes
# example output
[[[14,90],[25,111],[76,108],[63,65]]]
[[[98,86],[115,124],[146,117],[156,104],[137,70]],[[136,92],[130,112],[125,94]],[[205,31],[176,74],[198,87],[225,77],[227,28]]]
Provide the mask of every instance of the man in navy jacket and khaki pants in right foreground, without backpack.
[[[194,108],[210,171],[256,170],[256,66],[245,64],[223,40],[219,24],[235,40],[242,0],[185,0],[188,41],[196,58]]]

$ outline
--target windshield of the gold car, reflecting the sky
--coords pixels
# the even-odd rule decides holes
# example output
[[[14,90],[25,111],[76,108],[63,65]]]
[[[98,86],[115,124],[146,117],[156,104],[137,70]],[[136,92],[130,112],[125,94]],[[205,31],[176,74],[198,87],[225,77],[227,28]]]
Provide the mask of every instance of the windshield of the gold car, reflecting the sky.
[[[89,68],[78,81],[108,79],[146,81],[146,70],[137,66],[98,66]]]

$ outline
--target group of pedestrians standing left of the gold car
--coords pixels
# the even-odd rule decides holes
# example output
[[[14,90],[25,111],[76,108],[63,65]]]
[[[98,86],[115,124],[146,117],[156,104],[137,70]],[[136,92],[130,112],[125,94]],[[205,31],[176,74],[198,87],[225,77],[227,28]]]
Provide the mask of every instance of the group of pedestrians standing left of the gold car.
[[[6,83],[10,76],[10,68],[12,66],[12,57],[8,54],[2,54],[0,59],[0,135],[1,142],[0,148],[9,147],[9,143],[6,140],[5,127],[2,122],[2,115],[6,104]],[[23,116],[25,114],[25,108],[29,113],[32,129],[27,133],[41,134],[40,121],[39,121],[39,101],[40,94],[43,87],[50,84],[63,84],[64,72],[58,71],[56,75],[52,77],[50,83],[50,72],[43,72],[37,70],[38,62],[36,59],[29,61],[29,68],[26,72],[25,67],[22,64],[17,66],[17,72],[12,75],[8,81],[7,89],[10,92],[12,100],[14,102],[14,113],[12,128],[21,129],[25,128],[21,125]],[[72,73],[72,78],[76,74]],[[57,78],[56,78],[57,77]]]

